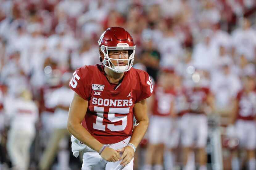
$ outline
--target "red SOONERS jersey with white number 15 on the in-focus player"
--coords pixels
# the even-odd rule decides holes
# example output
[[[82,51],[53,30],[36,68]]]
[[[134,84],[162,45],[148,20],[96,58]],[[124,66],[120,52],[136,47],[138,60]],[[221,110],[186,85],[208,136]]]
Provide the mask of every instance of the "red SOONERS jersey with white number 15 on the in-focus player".
[[[117,85],[109,83],[103,65],[76,69],[69,86],[88,101],[86,127],[103,144],[117,143],[131,136],[134,104],[153,92],[145,71],[131,68]]]

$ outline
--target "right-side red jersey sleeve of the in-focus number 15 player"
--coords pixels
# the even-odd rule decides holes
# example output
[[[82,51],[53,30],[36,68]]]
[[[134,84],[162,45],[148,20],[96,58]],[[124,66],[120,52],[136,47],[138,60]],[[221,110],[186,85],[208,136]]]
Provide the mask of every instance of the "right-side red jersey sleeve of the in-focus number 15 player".
[[[138,98],[135,103],[138,103],[139,101],[142,101],[143,99],[150,97],[151,94],[153,93],[153,82],[149,77],[148,73],[142,71],[141,73],[139,73],[139,79],[140,94],[138,94]]]

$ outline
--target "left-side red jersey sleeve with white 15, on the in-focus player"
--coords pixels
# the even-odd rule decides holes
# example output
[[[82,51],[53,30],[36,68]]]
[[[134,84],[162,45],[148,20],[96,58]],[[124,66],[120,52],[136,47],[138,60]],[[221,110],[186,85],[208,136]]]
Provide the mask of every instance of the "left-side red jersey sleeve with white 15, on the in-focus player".
[[[87,101],[89,100],[88,72],[87,66],[76,69],[72,79],[69,81],[69,87]]]

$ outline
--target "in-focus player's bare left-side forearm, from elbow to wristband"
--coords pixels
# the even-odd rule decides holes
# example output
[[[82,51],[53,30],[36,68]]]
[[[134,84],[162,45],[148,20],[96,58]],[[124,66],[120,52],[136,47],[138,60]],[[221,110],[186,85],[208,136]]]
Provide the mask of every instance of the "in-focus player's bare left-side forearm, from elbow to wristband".
[[[82,143],[99,152],[103,144],[95,139],[81,124],[68,122],[68,131]]]

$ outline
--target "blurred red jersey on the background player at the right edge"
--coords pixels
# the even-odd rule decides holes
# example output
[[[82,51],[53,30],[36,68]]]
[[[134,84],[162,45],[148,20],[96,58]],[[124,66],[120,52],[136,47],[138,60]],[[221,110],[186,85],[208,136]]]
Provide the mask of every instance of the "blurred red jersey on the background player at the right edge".
[[[238,111],[237,119],[254,120],[256,117],[256,92],[246,94],[241,91],[237,94]]]

